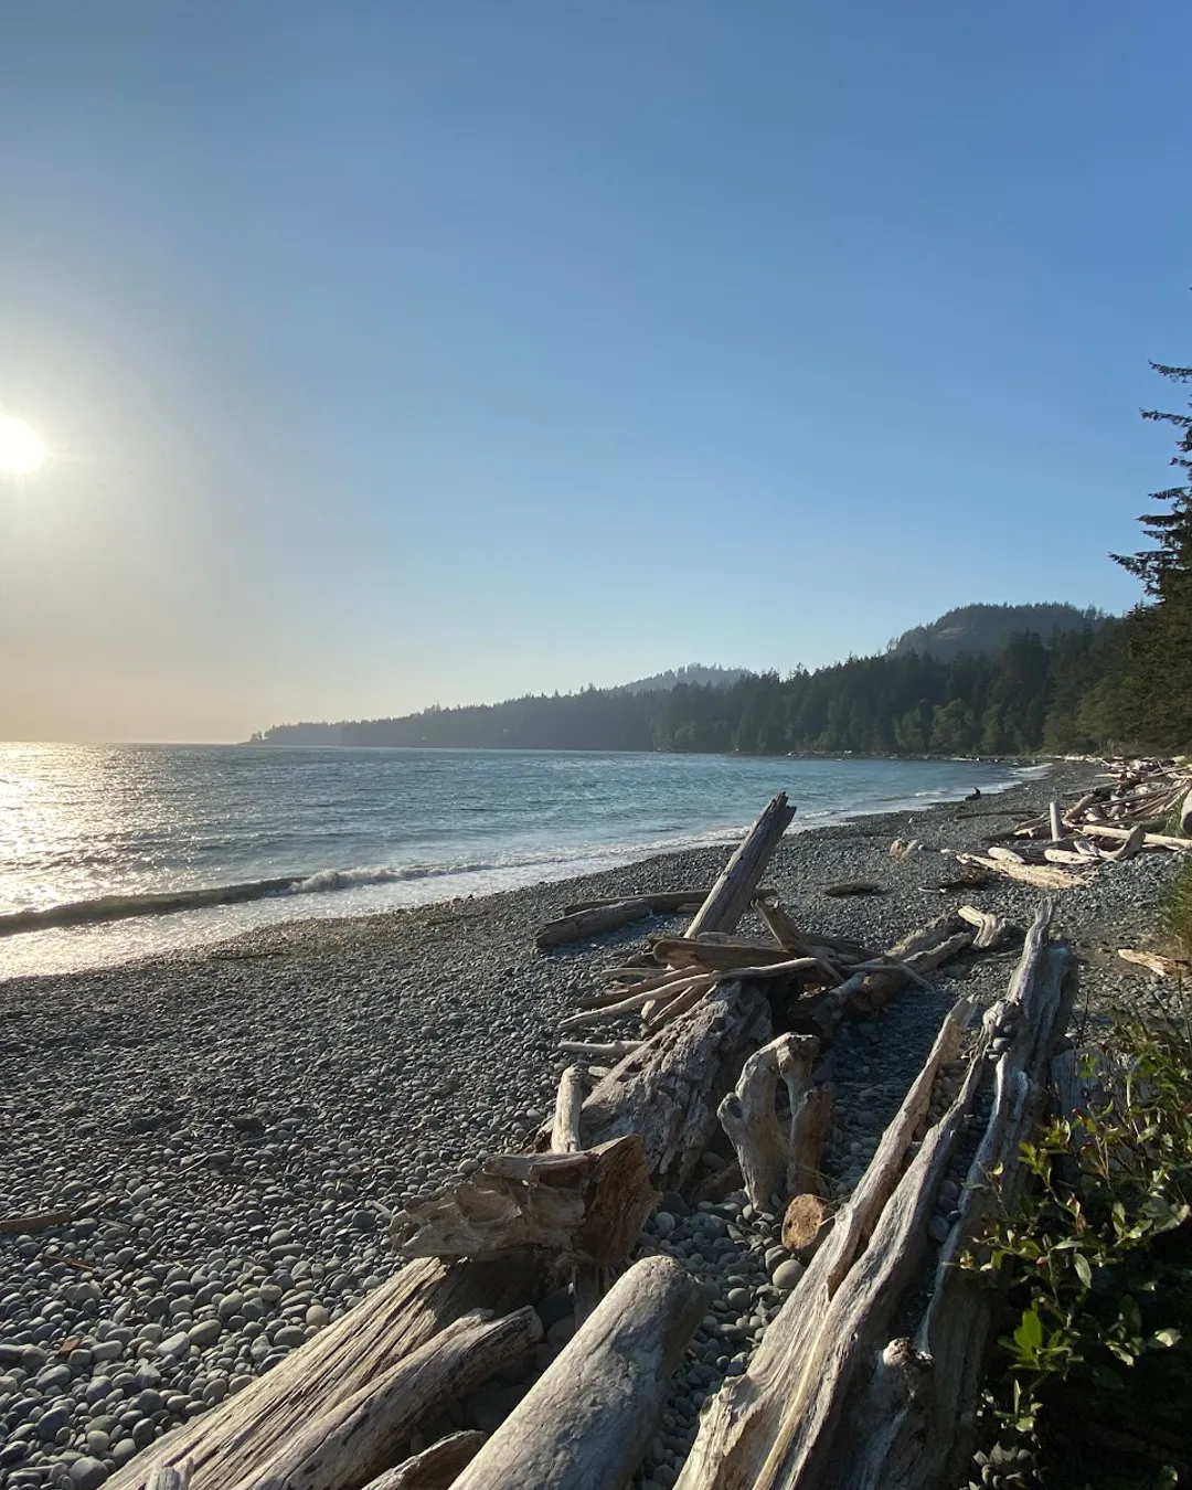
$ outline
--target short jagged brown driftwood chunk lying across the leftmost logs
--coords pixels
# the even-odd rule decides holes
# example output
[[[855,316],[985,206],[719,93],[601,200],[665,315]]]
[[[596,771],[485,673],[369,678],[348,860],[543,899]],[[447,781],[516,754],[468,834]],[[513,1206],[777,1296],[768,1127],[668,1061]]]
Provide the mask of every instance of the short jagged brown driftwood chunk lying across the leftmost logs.
[[[501,1153],[450,1191],[399,1211],[411,1258],[493,1258],[536,1247],[563,1264],[617,1266],[659,1196],[636,1132],[578,1153]]]

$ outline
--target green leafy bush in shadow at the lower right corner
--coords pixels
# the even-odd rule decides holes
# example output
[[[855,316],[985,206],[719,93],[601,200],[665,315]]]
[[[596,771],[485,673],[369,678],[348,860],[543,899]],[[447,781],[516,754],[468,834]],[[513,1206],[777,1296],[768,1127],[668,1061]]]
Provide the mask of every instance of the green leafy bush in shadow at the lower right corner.
[[[1192,1472],[1189,1013],[1113,1019],[1083,1071],[1097,1098],[1024,1146],[1024,1199],[968,1259],[1009,1281],[1013,1308],[982,1484],[1137,1490]]]

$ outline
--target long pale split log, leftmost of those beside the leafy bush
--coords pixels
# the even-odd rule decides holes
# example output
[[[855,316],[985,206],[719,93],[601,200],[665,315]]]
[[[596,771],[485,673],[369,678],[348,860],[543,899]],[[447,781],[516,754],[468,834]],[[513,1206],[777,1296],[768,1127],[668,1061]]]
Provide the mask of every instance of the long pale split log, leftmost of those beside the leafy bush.
[[[773,1483],[760,1477],[773,1445],[797,1424],[806,1393],[822,1369],[817,1351],[822,1320],[898,1183],[907,1147],[927,1118],[936,1076],[955,1058],[971,1013],[973,1004],[963,1000],[943,1021],[852,1198],[837,1211],[827,1240],[772,1320],[748,1369],[729,1380],[705,1407],[676,1490],[748,1490]]]

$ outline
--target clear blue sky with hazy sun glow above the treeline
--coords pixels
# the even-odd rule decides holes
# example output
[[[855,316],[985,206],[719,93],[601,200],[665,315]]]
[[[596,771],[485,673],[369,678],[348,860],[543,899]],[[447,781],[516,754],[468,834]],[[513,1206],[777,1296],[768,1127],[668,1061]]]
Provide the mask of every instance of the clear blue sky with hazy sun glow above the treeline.
[[[4,0],[0,736],[1135,597],[1185,0]],[[4,717],[6,715],[6,717]]]

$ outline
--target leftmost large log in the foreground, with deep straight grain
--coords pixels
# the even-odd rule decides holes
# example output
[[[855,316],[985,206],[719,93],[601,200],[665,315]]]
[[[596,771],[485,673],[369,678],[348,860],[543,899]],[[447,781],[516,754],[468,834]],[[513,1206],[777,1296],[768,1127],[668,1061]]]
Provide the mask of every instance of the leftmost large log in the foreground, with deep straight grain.
[[[420,1258],[268,1375],[137,1454],[107,1486],[146,1490],[161,1465],[189,1459],[191,1490],[232,1490],[305,1423],[346,1402],[451,1320],[480,1307],[519,1308],[541,1296],[541,1287],[529,1258],[495,1265]]]

